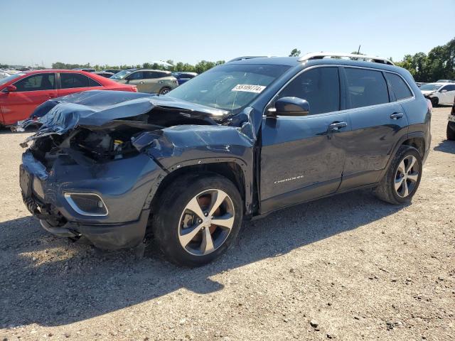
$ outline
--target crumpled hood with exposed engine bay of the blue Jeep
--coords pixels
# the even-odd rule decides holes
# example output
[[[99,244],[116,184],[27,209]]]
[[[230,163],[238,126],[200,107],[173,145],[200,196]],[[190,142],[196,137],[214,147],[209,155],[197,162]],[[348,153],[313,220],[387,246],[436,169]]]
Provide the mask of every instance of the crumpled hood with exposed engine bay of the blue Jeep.
[[[171,126],[232,123],[223,110],[169,97],[109,91],[81,92],[45,102],[23,126],[35,124],[37,118],[40,129],[21,146],[34,141],[33,156],[47,169],[59,156],[90,166],[137,155],[144,144],[135,141],[144,132],[159,138],[162,129]]]

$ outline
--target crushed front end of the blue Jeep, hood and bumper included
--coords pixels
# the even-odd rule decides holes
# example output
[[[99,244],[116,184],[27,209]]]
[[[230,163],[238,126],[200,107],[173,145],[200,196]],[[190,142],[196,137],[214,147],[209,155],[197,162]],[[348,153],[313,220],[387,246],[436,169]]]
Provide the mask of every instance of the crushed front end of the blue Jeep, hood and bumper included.
[[[159,139],[163,129],[181,124],[217,128],[215,119],[225,114],[117,91],[81,92],[43,106],[41,128],[22,144],[23,201],[44,229],[87,237],[102,249],[142,242],[151,200],[168,174],[142,143],[144,133]]]

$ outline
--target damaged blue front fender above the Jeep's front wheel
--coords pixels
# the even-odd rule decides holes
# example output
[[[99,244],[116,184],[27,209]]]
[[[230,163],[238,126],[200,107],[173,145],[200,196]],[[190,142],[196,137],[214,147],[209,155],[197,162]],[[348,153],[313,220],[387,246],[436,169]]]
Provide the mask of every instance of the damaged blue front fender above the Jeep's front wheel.
[[[249,121],[242,127],[173,126],[161,131],[144,131],[132,144],[154,158],[168,173],[208,163],[236,163],[242,170],[242,174],[236,174],[236,177],[244,181],[245,209],[251,213],[254,140],[245,134],[251,129]]]

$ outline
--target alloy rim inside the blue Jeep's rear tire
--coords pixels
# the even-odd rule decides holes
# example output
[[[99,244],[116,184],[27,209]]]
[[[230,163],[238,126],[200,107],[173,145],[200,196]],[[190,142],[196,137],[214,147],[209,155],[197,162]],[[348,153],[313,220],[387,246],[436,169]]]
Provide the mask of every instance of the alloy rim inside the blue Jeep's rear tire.
[[[412,193],[419,179],[419,163],[417,158],[408,155],[402,159],[395,173],[395,192],[400,197],[407,197]]]

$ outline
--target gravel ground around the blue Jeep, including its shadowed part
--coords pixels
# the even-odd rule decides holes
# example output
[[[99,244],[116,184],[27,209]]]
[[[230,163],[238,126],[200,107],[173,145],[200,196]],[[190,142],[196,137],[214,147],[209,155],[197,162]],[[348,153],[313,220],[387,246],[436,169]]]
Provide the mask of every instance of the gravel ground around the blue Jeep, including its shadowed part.
[[[370,191],[249,222],[219,261],[179,269],[44,232],[1,131],[0,340],[451,340],[455,142],[434,109],[412,205]]]

